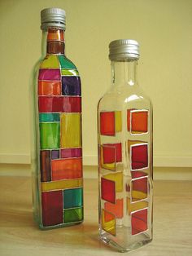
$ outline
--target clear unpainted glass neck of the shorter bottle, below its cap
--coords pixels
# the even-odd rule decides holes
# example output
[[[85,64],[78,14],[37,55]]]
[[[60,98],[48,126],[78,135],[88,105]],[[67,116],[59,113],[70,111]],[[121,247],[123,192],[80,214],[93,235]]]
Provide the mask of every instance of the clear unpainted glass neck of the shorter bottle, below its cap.
[[[114,86],[137,86],[137,60],[112,61],[111,75]]]

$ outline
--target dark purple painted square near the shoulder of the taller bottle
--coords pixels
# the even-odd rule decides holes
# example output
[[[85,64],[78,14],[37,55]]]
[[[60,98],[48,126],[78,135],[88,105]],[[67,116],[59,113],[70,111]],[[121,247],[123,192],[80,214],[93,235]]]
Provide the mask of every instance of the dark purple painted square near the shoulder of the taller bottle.
[[[80,77],[62,77],[62,95],[80,95]]]

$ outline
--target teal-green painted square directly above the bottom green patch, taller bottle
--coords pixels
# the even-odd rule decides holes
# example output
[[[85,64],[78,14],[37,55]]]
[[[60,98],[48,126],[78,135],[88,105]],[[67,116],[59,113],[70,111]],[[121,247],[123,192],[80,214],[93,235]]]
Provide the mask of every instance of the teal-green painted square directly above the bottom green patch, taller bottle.
[[[83,189],[72,188],[63,190],[63,209],[80,207],[83,204]]]

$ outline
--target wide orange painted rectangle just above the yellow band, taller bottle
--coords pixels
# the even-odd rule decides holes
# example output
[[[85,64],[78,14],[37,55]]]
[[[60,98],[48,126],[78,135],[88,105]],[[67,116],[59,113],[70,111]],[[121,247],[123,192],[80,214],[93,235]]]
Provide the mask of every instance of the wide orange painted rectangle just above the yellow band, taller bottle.
[[[82,158],[51,161],[52,180],[78,179],[82,177]]]

